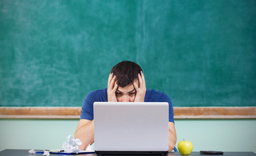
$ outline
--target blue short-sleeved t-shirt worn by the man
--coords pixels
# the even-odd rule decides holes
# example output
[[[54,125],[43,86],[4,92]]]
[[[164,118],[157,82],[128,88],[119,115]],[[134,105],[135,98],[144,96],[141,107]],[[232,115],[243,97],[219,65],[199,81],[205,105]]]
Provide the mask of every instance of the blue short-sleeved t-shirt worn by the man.
[[[85,97],[81,110],[80,119],[93,120],[93,103],[95,101],[107,102],[107,88],[101,90],[92,90]],[[167,102],[169,103],[169,122],[173,122],[173,105],[171,99],[164,92],[147,89],[145,102]]]

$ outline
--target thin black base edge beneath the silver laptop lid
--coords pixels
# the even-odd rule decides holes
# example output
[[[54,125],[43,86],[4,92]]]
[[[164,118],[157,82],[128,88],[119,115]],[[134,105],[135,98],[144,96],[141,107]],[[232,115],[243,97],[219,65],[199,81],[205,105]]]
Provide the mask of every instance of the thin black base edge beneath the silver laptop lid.
[[[168,151],[95,151],[97,155],[167,155]]]

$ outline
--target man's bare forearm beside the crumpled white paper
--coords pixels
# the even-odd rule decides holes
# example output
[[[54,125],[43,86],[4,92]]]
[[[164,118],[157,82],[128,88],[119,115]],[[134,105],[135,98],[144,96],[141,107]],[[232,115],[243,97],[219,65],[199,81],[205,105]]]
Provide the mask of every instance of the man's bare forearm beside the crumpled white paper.
[[[85,150],[89,144],[92,144],[94,142],[94,120],[78,127],[75,138],[81,140],[82,144],[79,146],[81,150]]]

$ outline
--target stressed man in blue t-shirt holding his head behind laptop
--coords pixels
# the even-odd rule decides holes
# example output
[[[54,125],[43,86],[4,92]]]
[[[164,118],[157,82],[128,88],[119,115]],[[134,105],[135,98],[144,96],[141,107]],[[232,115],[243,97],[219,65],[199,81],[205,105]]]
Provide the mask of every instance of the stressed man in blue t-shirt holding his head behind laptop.
[[[109,102],[168,102],[169,103],[169,151],[175,147],[177,136],[173,120],[173,105],[164,92],[146,88],[141,67],[135,62],[122,61],[115,65],[107,81],[107,88],[89,92],[85,97],[75,137],[82,142],[84,150],[94,142],[94,101]],[[157,144],[157,142],[156,142]]]

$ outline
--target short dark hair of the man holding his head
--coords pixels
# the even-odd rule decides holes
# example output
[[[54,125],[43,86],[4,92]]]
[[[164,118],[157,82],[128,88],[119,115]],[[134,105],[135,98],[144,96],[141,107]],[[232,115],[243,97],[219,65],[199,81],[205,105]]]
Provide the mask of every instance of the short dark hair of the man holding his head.
[[[117,85],[124,87],[134,83],[134,80],[138,79],[138,73],[141,71],[141,67],[135,62],[124,60],[115,65],[111,73],[116,76]]]

